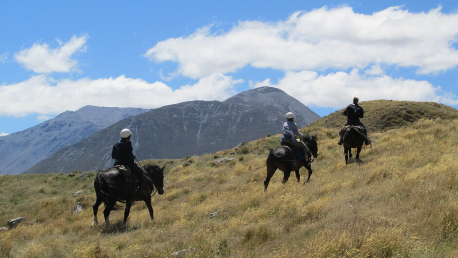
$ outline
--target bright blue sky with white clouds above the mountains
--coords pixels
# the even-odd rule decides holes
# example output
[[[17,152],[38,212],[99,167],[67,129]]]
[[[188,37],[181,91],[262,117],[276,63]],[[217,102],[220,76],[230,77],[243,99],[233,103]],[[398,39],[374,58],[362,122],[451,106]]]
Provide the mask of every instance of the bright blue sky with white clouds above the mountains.
[[[0,1],[0,134],[85,105],[282,89],[458,108],[456,1]]]

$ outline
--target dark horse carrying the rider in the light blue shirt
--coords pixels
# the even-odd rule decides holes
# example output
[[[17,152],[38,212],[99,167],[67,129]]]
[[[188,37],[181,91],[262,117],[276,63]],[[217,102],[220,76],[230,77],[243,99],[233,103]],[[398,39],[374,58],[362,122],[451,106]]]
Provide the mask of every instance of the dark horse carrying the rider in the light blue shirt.
[[[314,158],[318,157],[317,137],[318,137],[318,134],[314,136],[306,135],[306,136],[303,136],[303,138],[301,139],[305,143],[305,145],[308,147],[310,152],[313,154]],[[309,155],[308,153],[306,154]],[[309,158],[311,158],[310,155],[309,155]],[[301,180],[299,169],[305,166],[305,160],[304,161],[297,160],[292,147],[280,146],[280,147],[275,147],[275,148],[270,149],[269,155],[267,156],[266,164],[267,164],[267,177],[266,177],[266,180],[264,181],[264,191],[267,190],[267,186],[269,185],[270,178],[273,176],[277,168],[282,170],[284,173],[283,181],[282,181],[283,184],[285,184],[288,181],[291,171],[296,172],[296,179],[297,179],[297,182],[299,183]],[[308,178],[307,178],[307,181],[304,182],[304,184],[310,181],[310,175],[312,174],[312,167],[310,164],[308,166],[305,166],[305,168],[308,170]]]

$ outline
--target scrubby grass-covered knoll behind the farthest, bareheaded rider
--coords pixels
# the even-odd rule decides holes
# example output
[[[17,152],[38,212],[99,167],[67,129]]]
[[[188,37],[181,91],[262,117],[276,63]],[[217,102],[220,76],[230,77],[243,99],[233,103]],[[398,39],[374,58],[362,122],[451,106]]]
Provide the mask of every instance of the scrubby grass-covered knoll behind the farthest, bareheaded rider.
[[[360,102],[360,105],[364,110],[361,122],[370,132],[404,127],[422,118],[458,118],[458,110],[435,102],[372,100]],[[341,128],[346,122],[343,115],[345,108],[324,116],[308,127]]]

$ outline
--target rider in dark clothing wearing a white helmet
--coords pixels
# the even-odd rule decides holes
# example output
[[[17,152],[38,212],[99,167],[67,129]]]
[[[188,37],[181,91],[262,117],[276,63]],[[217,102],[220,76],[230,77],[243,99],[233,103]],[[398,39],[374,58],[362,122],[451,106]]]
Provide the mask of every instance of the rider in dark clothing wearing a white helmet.
[[[121,130],[121,140],[113,146],[111,157],[115,159],[114,166],[129,166],[131,171],[138,175],[140,179],[140,192],[142,195],[149,195],[146,187],[147,175],[145,170],[134,161],[136,159],[133,153],[131,136],[132,132],[129,129]]]

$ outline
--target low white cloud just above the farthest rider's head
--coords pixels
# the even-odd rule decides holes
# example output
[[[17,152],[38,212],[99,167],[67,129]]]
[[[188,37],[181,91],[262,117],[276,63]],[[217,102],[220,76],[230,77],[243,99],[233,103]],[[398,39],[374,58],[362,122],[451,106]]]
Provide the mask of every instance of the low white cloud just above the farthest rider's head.
[[[360,101],[392,99],[458,104],[456,96],[442,92],[427,81],[365,76],[359,74],[358,69],[327,75],[313,71],[288,72],[277,84],[268,79],[254,84],[255,88],[261,86],[279,88],[305,105],[316,107],[342,108],[351,103],[354,96]]]

